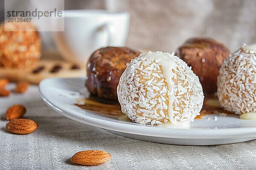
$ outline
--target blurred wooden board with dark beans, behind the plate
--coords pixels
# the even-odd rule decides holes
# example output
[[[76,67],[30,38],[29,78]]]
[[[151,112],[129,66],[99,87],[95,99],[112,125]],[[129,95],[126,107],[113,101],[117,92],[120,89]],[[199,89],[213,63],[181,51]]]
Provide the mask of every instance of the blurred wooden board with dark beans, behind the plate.
[[[78,66],[79,68],[72,69],[74,66]],[[39,67],[44,67],[44,69],[36,72],[35,70]],[[42,79],[48,77],[85,77],[85,75],[85,63],[64,62],[61,60],[41,60],[29,69],[0,67],[0,78],[7,78],[13,82],[27,81],[32,84],[39,84]]]

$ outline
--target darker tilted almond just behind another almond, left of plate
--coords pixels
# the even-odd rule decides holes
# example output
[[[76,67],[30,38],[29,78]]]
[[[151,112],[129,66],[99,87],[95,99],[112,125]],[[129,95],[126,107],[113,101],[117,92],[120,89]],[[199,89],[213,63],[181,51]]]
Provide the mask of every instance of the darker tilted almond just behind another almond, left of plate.
[[[12,105],[6,111],[6,119],[18,119],[26,113],[26,108],[23,105]]]

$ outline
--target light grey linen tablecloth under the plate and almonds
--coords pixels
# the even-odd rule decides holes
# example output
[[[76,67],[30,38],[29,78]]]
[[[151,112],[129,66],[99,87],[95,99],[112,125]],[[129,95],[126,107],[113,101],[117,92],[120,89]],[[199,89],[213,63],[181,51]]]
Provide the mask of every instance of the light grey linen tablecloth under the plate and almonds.
[[[13,84],[8,88],[12,89]],[[26,106],[24,118],[38,123],[28,135],[8,133],[6,109]],[[101,128],[67,119],[41,100],[38,86],[25,94],[0,98],[0,170],[88,169],[88,170],[165,170],[165,169],[256,169],[256,140],[215,146],[180,146],[128,139]],[[110,161],[86,167],[70,162],[82,150],[105,150]]]

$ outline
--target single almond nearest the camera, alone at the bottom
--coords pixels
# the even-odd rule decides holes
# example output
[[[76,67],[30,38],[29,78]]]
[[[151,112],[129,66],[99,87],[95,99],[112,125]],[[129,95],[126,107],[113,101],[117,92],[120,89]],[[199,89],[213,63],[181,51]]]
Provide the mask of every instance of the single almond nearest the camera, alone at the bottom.
[[[76,153],[70,159],[73,163],[87,166],[103,164],[111,158],[111,155],[103,150],[85,150]]]

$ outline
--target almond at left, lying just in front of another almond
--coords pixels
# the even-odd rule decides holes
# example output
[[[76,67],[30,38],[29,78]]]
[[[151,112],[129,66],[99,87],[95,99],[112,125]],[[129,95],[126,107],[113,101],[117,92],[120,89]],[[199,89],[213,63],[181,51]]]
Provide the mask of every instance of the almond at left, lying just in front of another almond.
[[[15,134],[29,134],[38,128],[38,124],[30,119],[12,119],[6,124],[6,130]]]

